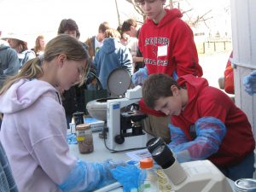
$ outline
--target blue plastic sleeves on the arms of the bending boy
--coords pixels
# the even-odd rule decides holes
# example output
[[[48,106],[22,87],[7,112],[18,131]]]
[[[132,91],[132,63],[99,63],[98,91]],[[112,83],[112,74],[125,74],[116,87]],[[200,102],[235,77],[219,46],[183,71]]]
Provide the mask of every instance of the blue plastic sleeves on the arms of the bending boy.
[[[168,144],[177,161],[205,160],[218,151],[227,129],[224,123],[214,117],[202,117],[195,122],[195,139],[189,141],[184,132],[169,125],[173,140]],[[187,142],[186,142],[187,140]]]

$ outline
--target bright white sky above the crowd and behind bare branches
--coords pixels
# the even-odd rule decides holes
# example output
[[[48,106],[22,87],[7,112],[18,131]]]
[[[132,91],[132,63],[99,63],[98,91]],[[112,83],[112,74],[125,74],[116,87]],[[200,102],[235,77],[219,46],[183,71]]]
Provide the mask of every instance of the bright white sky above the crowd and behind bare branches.
[[[117,2],[121,22],[128,18],[139,19],[130,3],[125,0]],[[183,0],[181,5],[183,8],[188,6],[196,10],[195,15],[213,9],[211,14],[220,17],[218,11],[229,2],[230,0]],[[32,39],[39,34],[53,38],[61,20],[69,18],[76,20],[81,41],[96,34],[102,21],[108,21],[113,28],[119,25],[114,0],[0,0],[2,32],[29,34]]]

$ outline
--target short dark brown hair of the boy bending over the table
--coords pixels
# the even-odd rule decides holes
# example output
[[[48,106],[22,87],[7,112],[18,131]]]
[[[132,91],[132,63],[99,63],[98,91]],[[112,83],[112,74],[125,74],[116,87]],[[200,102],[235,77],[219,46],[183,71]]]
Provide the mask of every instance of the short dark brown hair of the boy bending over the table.
[[[154,108],[155,102],[160,97],[173,96],[171,86],[175,85],[180,90],[180,85],[177,84],[170,76],[158,73],[148,76],[143,83],[143,100],[148,108]]]

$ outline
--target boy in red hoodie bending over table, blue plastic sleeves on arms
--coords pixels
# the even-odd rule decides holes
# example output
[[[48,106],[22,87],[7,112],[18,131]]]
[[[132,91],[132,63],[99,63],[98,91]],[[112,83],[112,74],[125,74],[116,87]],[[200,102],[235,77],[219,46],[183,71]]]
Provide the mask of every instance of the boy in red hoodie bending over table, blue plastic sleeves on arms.
[[[226,177],[253,177],[255,140],[247,116],[222,90],[191,74],[152,74],[143,84],[149,108],[171,115],[169,148],[179,162],[211,160]],[[159,127],[161,129],[161,127]]]

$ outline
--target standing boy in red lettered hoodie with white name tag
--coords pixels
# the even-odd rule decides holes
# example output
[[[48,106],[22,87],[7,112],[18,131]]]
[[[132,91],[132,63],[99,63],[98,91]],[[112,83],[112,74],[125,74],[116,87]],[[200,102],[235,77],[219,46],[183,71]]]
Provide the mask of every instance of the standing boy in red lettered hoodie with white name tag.
[[[166,0],[135,0],[143,9],[147,20],[139,33],[139,49],[142,51],[145,67],[132,75],[134,84],[143,84],[148,75],[165,73],[173,79],[185,74],[201,77],[203,72],[198,63],[193,32],[181,20],[178,9],[164,9]],[[148,113],[144,129],[154,136],[170,140],[167,125],[169,117],[149,110],[140,102],[143,112]],[[161,116],[161,117],[160,117]],[[163,126],[165,129],[158,129]]]

